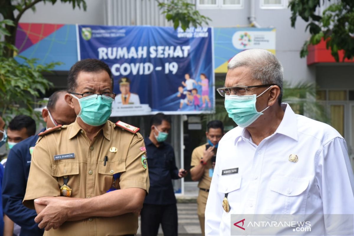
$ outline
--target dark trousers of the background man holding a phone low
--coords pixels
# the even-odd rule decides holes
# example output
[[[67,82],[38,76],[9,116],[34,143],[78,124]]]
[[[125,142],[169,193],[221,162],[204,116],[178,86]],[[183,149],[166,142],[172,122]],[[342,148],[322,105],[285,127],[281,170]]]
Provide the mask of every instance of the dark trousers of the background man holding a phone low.
[[[178,235],[178,219],[176,204],[153,205],[144,204],[141,209],[141,235],[156,236],[161,224],[164,236]]]

